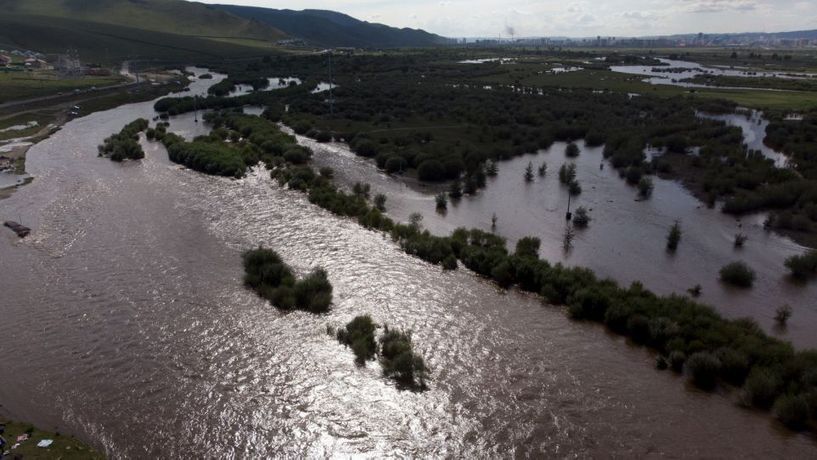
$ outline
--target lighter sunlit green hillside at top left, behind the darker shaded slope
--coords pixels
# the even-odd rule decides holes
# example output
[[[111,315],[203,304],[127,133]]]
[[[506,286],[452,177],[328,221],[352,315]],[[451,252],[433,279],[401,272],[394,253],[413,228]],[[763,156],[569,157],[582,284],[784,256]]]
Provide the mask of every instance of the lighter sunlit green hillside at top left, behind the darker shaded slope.
[[[0,11],[197,37],[269,42],[284,36],[269,25],[182,0],[0,0]]]

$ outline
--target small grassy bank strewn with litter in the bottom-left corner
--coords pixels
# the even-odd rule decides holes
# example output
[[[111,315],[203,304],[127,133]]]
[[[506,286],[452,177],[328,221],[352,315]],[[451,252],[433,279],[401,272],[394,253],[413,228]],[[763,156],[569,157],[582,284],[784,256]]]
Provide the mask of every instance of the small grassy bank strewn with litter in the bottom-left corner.
[[[96,460],[105,456],[89,447],[82,441],[60,433],[40,430],[33,425],[14,422],[0,418],[0,426],[4,431],[0,436],[6,441],[0,452],[9,452],[9,458],[41,459],[41,460]],[[17,441],[19,436],[26,439]],[[43,440],[51,440],[48,447],[37,447]],[[18,444],[12,449],[12,446]],[[5,458],[5,457],[4,457]]]

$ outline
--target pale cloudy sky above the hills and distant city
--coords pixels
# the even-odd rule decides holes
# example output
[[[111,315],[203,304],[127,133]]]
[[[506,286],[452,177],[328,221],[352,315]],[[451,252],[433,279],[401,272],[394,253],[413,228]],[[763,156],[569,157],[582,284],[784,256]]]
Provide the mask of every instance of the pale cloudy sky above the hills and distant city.
[[[447,37],[651,36],[817,28],[817,0],[199,0],[334,10]]]

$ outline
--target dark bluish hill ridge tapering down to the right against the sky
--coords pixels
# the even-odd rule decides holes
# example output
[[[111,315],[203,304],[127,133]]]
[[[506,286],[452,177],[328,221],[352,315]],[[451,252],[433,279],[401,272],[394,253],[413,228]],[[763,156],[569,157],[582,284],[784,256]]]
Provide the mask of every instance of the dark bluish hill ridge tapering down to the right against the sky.
[[[402,48],[444,44],[447,39],[417,29],[398,29],[360,21],[326,10],[276,10],[236,5],[217,5],[223,11],[267,24],[291,38],[320,46]]]

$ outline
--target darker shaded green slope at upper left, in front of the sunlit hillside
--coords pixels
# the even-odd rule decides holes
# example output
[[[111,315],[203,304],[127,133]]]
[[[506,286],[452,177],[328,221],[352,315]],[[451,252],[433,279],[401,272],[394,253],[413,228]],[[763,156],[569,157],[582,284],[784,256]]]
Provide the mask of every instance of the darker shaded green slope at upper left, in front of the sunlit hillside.
[[[202,62],[259,56],[268,49],[74,19],[0,16],[0,49],[43,53],[76,49],[85,62],[113,64],[125,59]]]

